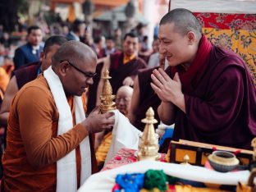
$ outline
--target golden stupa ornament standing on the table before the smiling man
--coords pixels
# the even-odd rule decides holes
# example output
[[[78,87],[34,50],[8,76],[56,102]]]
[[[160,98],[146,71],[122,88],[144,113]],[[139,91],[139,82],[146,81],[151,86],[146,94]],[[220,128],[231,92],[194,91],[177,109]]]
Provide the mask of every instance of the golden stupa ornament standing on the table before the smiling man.
[[[139,150],[138,150],[138,160],[153,160],[158,161],[159,154],[159,144],[158,144],[158,135],[155,133],[153,124],[158,121],[154,119],[153,108],[149,107],[146,112],[146,118],[141,120],[145,123],[145,128],[143,135],[139,138]]]

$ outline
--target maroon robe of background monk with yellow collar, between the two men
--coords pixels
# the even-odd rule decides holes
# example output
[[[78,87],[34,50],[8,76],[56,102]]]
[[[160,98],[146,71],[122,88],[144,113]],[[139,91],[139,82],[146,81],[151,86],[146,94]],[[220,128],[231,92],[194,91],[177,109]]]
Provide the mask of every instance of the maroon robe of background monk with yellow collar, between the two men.
[[[146,68],[146,63],[139,57],[135,57],[130,62],[123,64],[124,53],[113,53],[110,55],[110,70],[109,75],[112,79],[109,80],[112,85],[113,94],[117,94],[123,84],[123,80],[127,76],[137,75],[139,69]]]

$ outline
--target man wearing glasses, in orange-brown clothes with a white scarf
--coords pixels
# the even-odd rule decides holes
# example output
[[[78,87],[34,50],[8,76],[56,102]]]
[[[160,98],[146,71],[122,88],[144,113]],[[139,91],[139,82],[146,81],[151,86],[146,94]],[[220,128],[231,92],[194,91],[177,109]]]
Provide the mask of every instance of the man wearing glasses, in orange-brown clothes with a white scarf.
[[[87,45],[68,41],[52,66],[16,94],[3,156],[5,191],[76,191],[97,171],[91,134],[114,120],[98,108],[85,119],[80,96],[94,83],[96,62]]]

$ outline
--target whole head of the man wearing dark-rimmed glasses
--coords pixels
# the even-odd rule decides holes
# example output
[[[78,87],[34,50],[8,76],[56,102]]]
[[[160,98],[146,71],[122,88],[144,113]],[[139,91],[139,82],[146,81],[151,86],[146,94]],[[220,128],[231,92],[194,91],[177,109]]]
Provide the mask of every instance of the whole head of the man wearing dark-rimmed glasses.
[[[97,56],[85,43],[63,43],[53,56],[53,71],[62,82],[67,95],[80,96],[94,84]]]

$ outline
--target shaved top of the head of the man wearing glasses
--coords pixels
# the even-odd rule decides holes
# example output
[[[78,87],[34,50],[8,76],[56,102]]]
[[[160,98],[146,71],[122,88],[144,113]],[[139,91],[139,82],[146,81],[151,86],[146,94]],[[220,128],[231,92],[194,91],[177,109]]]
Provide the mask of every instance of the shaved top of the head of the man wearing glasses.
[[[75,62],[83,60],[97,61],[97,56],[94,51],[85,43],[79,41],[68,41],[63,43],[61,48],[53,56],[53,66],[57,66],[62,61]]]

